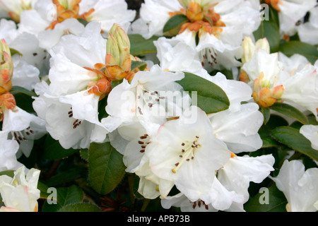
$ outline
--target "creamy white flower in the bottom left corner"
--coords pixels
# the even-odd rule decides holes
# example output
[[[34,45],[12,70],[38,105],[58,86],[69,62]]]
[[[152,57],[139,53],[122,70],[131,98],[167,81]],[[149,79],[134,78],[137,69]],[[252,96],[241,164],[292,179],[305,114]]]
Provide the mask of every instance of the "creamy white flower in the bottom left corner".
[[[40,198],[40,190],[37,182],[40,170],[30,169],[25,174],[25,167],[20,167],[14,172],[14,177],[0,176],[0,194],[5,207],[0,212],[10,211],[11,208],[20,212],[37,212],[37,199]]]

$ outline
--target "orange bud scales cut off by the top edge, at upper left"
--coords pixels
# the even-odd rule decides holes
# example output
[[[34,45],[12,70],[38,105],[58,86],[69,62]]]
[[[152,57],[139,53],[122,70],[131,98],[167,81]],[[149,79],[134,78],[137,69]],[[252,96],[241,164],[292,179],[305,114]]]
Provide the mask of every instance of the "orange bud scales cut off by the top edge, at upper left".
[[[79,9],[80,9],[80,2],[81,0],[52,0],[53,4],[57,7],[57,18],[54,20],[47,28],[54,29],[55,25],[58,23],[63,22],[66,19],[69,18],[76,18],[76,19],[83,19],[88,20],[90,15],[95,11],[94,8],[91,8],[86,13],[83,13],[82,15],[79,15]]]

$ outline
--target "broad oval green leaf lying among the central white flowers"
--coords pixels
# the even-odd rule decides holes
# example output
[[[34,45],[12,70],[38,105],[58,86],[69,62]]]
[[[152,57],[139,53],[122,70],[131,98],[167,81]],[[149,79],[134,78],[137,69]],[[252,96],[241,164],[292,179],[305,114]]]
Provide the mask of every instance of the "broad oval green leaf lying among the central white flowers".
[[[194,100],[197,97],[196,106],[206,114],[220,112],[230,106],[230,101],[224,91],[205,78],[184,72],[184,78],[177,83],[192,96],[192,104],[195,104]]]

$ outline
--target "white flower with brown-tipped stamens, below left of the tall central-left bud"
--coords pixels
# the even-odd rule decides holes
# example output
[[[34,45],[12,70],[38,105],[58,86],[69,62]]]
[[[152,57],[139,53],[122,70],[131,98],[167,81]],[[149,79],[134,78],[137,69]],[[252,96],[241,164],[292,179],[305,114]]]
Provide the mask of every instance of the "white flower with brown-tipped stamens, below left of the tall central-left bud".
[[[50,94],[47,83],[43,81],[38,84],[35,92],[39,95],[33,102],[35,112],[45,120],[47,132],[59,141],[63,148],[88,148],[92,141],[105,140],[106,131],[103,127],[74,117],[72,105],[61,102],[59,96]],[[80,100],[83,102],[83,99]],[[89,106],[92,105],[91,102],[92,100],[89,99]],[[94,109],[90,112],[93,112],[93,118],[95,118]]]

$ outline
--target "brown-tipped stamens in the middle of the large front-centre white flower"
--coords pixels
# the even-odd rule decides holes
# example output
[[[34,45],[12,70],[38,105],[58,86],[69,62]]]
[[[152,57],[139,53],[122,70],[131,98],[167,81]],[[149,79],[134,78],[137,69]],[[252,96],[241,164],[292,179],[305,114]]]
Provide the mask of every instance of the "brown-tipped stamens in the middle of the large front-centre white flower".
[[[172,169],[172,172],[176,173],[184,162],[194,160],[194,155],[199,148],[201,148],[199,136],[196,136],[194,141],[185,141],[184,143],[181,143],[181,152],[179,153],[180,160],[175,164],[175,168]]]

